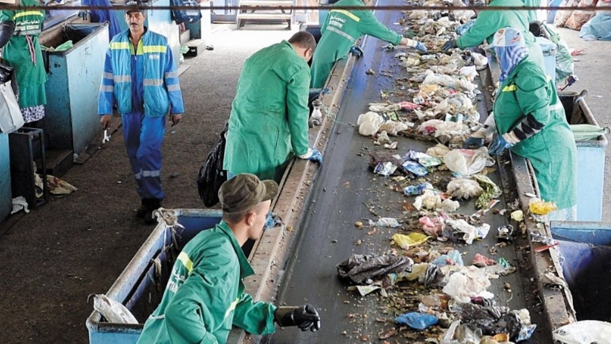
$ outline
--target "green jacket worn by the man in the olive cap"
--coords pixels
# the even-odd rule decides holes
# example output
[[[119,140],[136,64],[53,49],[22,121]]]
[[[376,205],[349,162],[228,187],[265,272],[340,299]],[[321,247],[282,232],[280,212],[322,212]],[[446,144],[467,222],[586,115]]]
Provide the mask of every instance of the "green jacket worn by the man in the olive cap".
[[[252,274],[224,221],[199,233],[178,255],[138,343],[225,343],[232,324],[253,334],[273,333],[276,306],[244,293],[242,279]]]

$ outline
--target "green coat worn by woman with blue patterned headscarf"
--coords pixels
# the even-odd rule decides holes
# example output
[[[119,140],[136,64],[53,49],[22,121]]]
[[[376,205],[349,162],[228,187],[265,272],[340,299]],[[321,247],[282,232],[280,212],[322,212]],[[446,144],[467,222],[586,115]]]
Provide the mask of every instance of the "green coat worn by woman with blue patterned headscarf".
[[[554,82],[543,68],[522,60],[500,85],[494,102],[494,120],[500,134],[516,128],[527,114],[543,124],[543,129],[518,142],[511,152],[530,160],[546,201],[558,209],[577,202],[577,147],[566,122]]]

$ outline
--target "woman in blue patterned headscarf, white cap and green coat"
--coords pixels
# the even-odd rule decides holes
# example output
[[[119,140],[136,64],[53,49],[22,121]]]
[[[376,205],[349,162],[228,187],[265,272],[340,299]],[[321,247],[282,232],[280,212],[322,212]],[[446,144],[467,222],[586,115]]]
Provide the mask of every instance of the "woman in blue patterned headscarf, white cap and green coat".
[[[558,207],[548,219],[574,221],[577,147],[554,82],[540,65],[528,59],[529,49],[520,30],[500,29],[491,48],[501,70],[494,114],[465,141],[465,147],[481,146],[485,137],[496,132],[489,153],[500,155],[510,149],[529,159],[541,197]]]

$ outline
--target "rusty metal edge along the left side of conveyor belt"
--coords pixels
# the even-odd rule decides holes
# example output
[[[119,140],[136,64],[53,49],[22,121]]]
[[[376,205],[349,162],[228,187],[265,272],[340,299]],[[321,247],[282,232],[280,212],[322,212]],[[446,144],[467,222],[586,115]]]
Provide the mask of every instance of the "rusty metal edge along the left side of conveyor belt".
[[[348,77],[354,67],[354,57],[343,59],[335,64],[327,80],[329,93],[321,95],[323,109],[329,113],[323,116],[320,128],[310,129],[309,141],[313,147],[324,153],[329,133],[334,125],[335,113],[339,109],[348,83]],[[255,275],[244,280],[246,293],[255,300],[273,302],[282,280],[284,266],[290,257],[299,236],[299,223],[302,218],[302,207],[309,200],[313,177],[318,174],[318,166],[310,161],[295,159],[287,168],[284,182],[280,189],[273,211],[284,224],[271,230],[265,230],[257,241],[250,257]],[[247,335],[242,329],[233,329],[227,343],[258,342],[258,337]]]

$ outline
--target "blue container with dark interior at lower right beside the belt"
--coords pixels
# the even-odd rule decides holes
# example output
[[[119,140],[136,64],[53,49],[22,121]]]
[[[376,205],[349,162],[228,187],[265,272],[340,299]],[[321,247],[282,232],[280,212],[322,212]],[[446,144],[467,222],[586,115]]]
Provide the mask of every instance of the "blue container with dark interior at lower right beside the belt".
[[[573,295],[577,320],[611,317],[611,222],[550,224],[558,241],[562,273]]]

